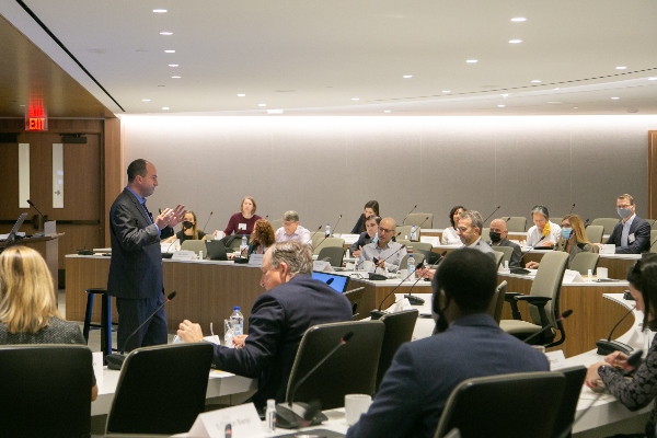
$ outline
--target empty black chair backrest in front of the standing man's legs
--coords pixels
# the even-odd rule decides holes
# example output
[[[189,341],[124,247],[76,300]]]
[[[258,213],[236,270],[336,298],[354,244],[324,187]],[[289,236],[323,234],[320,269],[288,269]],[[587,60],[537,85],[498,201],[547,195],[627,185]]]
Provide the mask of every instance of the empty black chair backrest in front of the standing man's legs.
[[[182,434],[204,412],[209,343],[138,348],[123,365],[106,434]]]

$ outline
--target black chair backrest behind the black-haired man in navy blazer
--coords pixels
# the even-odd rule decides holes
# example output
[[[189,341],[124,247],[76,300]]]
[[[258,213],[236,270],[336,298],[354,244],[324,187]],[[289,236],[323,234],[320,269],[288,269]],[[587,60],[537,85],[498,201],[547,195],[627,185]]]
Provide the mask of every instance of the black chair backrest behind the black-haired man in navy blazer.
[[[463,438],[552,438],[565,387],[566,378],[550,371],[464,380],[447,400],[435,438],[454,427]]]

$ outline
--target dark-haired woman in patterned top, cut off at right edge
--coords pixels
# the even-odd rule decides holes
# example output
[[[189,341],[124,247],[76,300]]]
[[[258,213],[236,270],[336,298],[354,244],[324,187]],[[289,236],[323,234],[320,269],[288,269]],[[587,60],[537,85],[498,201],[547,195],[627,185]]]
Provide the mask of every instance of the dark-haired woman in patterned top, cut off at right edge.
[[[636,262],[627,274],[630,293],[636,300],[636,310],[644,313],[644,328],[657,330],[657,254],[648,254]],[[657,336],[657,335],[656,335]],[[604,358],[603,362],[593,364],[588,368],[586,384],[595,388],[601,380],[609,392],[630,411],[638,411],[657,397],[657,343],[653,338],[645,360],[638,366],[631,379],[623,377],[622,368],[626,365],[627,356],[614,351]],[[655,436],[657,423],[657,404],[653,407],[650,418],[646,424],[646,435]]]

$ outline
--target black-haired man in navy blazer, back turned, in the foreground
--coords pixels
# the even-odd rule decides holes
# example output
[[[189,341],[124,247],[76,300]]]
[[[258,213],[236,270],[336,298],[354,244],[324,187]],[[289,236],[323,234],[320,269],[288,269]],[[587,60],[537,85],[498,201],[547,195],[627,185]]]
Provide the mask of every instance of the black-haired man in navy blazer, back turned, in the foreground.
[[[462,249],[445,257],[433,281],[433,310],[449,326],[400,347],[347,438],[430,438],[463,380],[550,369],[544,354],[506,334],[486,313],[496,283],[497,266],[481,251]]]

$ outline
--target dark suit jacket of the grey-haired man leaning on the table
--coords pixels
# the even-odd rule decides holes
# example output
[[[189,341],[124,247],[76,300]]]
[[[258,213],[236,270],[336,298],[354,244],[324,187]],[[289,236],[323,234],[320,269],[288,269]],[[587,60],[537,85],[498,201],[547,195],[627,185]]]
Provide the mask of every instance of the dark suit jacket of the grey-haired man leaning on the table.
[[[351,321],[351,313],[345,296],[310,275],[296,275],[255,300],[244,348],[215,345],[214,361],[218,369],[260,378],[252,399],[256,407],[265,406],[267,399],[284,402],[306,331],[318,324]]]

